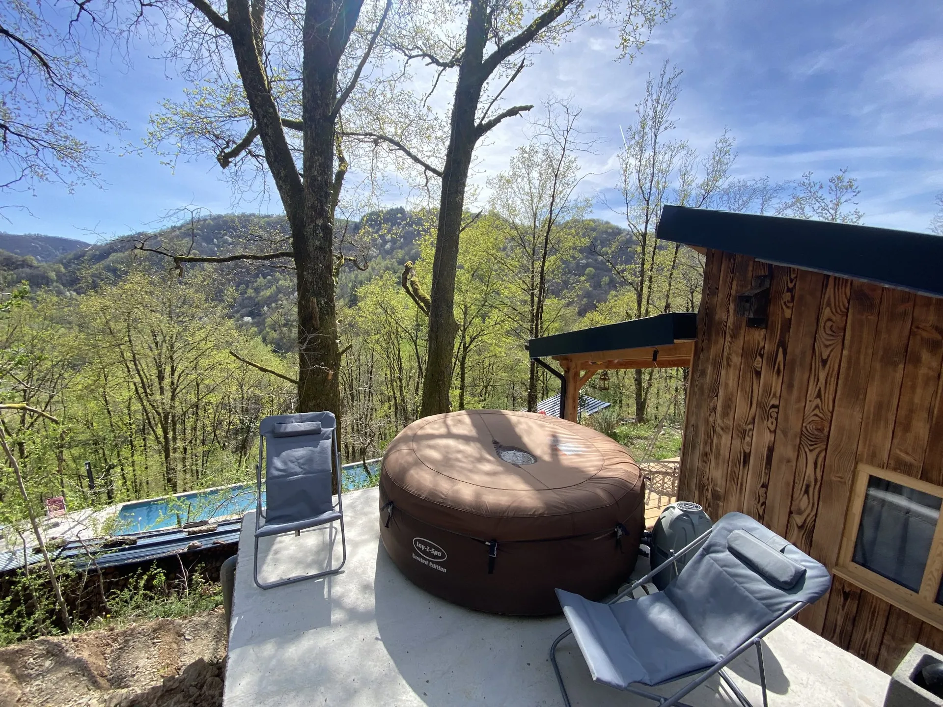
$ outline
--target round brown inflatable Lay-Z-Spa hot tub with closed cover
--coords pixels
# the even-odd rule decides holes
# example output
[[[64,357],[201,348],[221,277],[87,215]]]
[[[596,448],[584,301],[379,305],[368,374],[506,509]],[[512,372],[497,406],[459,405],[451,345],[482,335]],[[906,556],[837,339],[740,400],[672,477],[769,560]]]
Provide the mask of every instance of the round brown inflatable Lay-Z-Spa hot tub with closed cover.
[[[600,600],[635,567],[645,518],[637,464],[563,419],[467,410],[419,419],[389,444],[380,536],[414,584],[514,616],[557,614],[559,587]]]

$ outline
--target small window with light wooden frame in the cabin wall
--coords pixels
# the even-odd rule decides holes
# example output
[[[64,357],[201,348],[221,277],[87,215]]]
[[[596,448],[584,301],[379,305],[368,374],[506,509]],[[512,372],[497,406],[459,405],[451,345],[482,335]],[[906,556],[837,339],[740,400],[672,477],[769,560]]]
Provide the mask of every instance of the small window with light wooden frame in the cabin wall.
[[[834,572],[943,629],[943,486],[859,464]]]

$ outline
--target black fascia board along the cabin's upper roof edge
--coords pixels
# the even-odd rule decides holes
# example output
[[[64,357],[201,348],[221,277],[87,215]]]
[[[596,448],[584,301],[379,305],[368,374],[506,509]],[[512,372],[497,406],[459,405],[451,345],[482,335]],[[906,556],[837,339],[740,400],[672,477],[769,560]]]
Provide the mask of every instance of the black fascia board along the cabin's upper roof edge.
[[[658,238],[943,296],[943,236],[852,223],[665,206]]]

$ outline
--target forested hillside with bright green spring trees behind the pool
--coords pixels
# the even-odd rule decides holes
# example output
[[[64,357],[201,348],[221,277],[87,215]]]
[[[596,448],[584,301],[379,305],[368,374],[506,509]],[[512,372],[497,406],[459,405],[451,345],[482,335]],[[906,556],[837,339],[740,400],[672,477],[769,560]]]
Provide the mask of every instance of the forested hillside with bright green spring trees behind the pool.
[[[27,255],[0,251],[0,337],[15,382],[4,402],[25,406],[7,434],[29,469],[30,495],[61,495],[74,508],[248,479],[257,420],[295,405],[294,271],[278,261],[176,267],[165,254],[274,247],[288,238],[284,218],[192,218],[51,259],[66,250],[60,239],[22,238]],[[339,222],[336,238],[347,258],[337,271],[343,452],[355,461],[382,453],[419,416],[426,323],[417,295],[429,287],[434,240],[429,215],[403,208]],[[541,255],[500,219],[476,220],[459,258],[455,407],[526,407],[527,338],[625,318],[613,267],[631,265],[629,240],[612,223],[571,219]],[[616,246],[623,255],[613,260]],[[531,283],[541,265],[536,322]],[[674,414],[679,398],[665,391],[680,383],[654,385]],[[534,385],[538,398],[555,392],[544,374]],[[591,394],[619,403],[626,390],[617,382]],[[6,524],[25,508],[8,469],[0,474]]]

